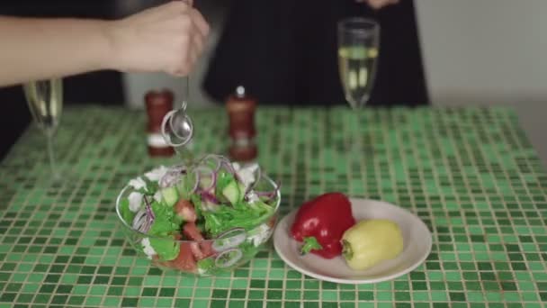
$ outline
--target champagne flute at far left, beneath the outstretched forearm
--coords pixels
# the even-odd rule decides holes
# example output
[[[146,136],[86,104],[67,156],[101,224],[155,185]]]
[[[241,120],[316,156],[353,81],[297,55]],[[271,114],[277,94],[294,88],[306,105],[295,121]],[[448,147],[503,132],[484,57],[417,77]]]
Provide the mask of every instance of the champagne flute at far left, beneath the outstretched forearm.
[[[31,81],[23,85],[23,91],[34,122],[47,138],[49,168],[51,169],[50,182],[58,183],[61,180],[61,175],[56,165],[53,138],[63,109],[62,79]]]

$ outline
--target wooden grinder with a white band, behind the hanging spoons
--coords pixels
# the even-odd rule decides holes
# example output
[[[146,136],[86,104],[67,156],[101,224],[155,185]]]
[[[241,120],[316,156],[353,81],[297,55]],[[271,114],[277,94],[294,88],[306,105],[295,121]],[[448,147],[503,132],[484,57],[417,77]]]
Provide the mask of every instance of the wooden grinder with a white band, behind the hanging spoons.
[[[148,113],[147,140],[148,155],[151,157],[168,157],[175,154],[161,134],[161,122],[166,113],[173,109],[174,95],[169,90],[148,91],[145,104]]]

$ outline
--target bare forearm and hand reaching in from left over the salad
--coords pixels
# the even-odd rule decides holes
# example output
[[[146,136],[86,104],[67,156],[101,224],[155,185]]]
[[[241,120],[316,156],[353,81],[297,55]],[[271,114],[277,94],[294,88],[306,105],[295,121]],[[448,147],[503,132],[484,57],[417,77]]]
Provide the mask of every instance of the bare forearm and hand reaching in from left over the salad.
[[[208,32],[182,1],[118,21],[0,17],[0,86],[103,69],[185,76]]]

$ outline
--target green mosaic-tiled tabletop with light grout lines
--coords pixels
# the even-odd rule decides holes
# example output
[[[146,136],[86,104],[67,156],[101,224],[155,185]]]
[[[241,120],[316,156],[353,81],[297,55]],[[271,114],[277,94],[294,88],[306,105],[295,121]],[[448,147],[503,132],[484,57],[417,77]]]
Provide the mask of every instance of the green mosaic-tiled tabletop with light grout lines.
[[[76,174],[47,177],[31,129],[0,166],[0,306],[540,308],[547,302],[547,175],[498,109],[262,109],[260,162],[282,181],[282,213],[326,191],[390,201],[434,235],[426,263],[376,285],[319,282],[271,247],[233,273],[162,274],[136,258],[114,213],[121,187],[173,159],[149,159],[145,115],[69,108],[58,158]],[[194,114],[196,150],[227,142],[223,110]],[[351,155],[354,144],[362,155]]]

